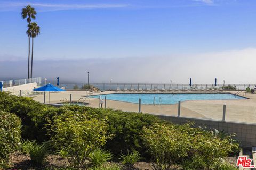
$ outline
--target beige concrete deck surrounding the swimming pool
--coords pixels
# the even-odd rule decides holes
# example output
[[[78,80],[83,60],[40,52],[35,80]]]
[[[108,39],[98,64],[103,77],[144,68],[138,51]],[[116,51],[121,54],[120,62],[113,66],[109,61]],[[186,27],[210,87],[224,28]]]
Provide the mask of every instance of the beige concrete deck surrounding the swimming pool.
[[[115,91],[94,92],[91,95],[109,94]],[[122,91],[123,92],[123,91]],[[235,94],[237,91],[221,91]],[[120,92],[119,92],[120,93]],[[173,92],[173,93],[179,93]],[[184,92],[183,92],[184,93]],[[191,93],[191,92],[190,92]],[[210,92],[209,92],[210,93]],[[50,103],[69,102],[69,94],[72,94],[72,101],[85,99],[86,91],[64,91],[50,94]],[[48,93],[46,92],[46,103],[48,103]],[[243,95],[243,92],[240,94]],[[212,120],[222,120],[223,105],[226,105],[226,121],[256,123],[256,94],[246,94],[249,99],[241,100],[190,100],[181,103],[181,116],[194,118],[207,118]],[[37,96],[34,100],[43,103],[43,95]],[[86,100],[87,102],[88,100]],[[156,101],[156,104],[158,100]],[[90,107],[99,107],[99,99],[90,98]],[[123,101],[107,100],[107,108],[121,109],[123,111],[138,112],[138,104]],[[155,115],[178,115],[178,104],[174,105],[141,105],[142,113]]]

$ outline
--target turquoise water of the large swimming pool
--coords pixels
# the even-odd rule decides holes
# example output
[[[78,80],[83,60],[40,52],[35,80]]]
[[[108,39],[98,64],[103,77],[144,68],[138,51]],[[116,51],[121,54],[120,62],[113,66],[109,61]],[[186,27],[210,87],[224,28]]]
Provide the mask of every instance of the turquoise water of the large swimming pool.
[[[93,98],[107,97],[107,100],[126,101],[130,103],[141,104],[153,104],[154,97],[156,98],[156,104],[158,104],[159,98],[162,99],[162,104],[176,104],[178,101],[187,100],[239,100],[246,99],[241,96],[233,94],[106,94],[106,95],[93,95]]]

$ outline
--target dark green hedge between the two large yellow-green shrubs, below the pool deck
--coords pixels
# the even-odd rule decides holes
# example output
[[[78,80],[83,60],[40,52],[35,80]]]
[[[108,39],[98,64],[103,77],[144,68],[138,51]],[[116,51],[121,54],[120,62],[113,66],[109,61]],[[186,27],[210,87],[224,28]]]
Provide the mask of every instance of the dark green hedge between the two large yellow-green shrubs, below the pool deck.
[[[76,105],[65,106],[60,109],[61,113],[73,111],[85,113],[97,119],[107,117],[107,135],[111,136],[111,138],[107,139],[105,148],[115,155],[127,154],[127,150],[137,150],[140,154],[144,154],[146,148],[142,143],[141,137],[143,127],[163,122],[153,115],[113,109],[99,109]]]

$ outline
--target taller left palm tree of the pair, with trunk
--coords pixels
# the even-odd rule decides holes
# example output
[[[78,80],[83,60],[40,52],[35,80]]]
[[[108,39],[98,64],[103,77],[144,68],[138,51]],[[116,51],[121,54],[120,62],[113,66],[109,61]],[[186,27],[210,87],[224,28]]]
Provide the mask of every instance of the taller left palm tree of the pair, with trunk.
[[[32,19],[36,19],[36,11],[35,8],[31,7],[30,5],[25,6],[22,8],[21,17],[23,19],[27,18],[28,28],[30,26],[30,22]],[[28,35],[28,79],[29,79],[29,59],[30,59],[30,32],[26,32]]]

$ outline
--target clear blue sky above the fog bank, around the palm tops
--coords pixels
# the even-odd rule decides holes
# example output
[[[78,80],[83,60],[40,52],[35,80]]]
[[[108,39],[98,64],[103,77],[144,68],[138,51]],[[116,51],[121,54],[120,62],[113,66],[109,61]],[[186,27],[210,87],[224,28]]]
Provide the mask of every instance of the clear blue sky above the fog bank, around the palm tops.
[[[26,58],[21,8],[38,11],[38,58],[169,56],[255,47],[255,1],[0,1],[1,55]]]

